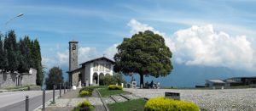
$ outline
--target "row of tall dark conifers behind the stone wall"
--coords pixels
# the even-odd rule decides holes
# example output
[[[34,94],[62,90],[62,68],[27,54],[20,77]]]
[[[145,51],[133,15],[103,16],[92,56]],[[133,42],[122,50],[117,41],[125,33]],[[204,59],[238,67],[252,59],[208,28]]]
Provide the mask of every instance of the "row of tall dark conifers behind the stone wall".
[[[5,35],[0,34],[0,47],[0,69],[20,73],[28,72],[30,68],[37,69],[37,85],[42,85],[44,73],[37,39],[33,41],[24,36],[17,42],[15,31],[9,31]]]

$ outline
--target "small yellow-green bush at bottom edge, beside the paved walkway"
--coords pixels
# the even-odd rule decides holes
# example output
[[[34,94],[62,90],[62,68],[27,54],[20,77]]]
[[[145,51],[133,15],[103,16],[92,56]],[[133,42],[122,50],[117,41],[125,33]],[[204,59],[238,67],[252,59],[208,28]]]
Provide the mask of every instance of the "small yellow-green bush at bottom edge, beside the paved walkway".
[[[94,106],[90,104],[88,101],[84,101],[82,103],[79,103],[79,105],[75,108],[73,108],[73,111],[92,111],[94,109]]]

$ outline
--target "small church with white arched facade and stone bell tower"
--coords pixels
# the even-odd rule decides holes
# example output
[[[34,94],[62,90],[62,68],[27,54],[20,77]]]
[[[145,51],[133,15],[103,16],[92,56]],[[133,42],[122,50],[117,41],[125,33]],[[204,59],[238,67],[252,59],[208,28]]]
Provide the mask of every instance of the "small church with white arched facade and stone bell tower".
[[[68,43],[69,70],[67,73],[70,86],[79,86],[79,81],[81,81],[84,86],[98,86],[101,77],[113,75],[113,60],[103,56],[78,64],[79,42],[72,41]]]

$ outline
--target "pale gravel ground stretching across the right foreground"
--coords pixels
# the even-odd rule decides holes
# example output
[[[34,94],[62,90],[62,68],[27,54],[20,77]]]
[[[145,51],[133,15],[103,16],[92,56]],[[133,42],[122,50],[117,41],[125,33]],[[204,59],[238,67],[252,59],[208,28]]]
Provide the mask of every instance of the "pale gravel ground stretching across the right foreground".
[[[177,89],[124,89],[138,97],[164,97],[165,92],[179,92],[181,100],[198,104],[213,111],[255,111],[256,89],[177,90]]]

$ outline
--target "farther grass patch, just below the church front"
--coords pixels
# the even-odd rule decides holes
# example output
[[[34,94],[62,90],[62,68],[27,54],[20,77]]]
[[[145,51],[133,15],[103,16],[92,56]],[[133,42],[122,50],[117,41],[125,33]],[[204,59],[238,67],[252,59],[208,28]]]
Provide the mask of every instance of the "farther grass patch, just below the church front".
[[[123,90],[108,90],[108,87],[101,88],[98,90],[101,93],[102,97],[108,97],[110,95],[117,95],[117,94],[122,94],[122,93],[129,93],[129,92],[125,92]]]

